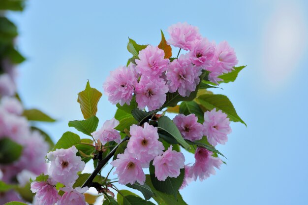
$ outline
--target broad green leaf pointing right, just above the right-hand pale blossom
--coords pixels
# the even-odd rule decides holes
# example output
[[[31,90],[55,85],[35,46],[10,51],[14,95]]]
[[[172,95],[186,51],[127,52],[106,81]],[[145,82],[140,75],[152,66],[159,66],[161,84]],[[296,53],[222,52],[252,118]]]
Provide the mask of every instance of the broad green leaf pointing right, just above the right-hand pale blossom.
[[[246,123],[236,113],[232,102],[230,102],[227,96],[205,94],[199,96],[196,100],[208,110],[212,110],[214,108],[220,109],[228,115],[231,121],[241,122],[246,125]]]

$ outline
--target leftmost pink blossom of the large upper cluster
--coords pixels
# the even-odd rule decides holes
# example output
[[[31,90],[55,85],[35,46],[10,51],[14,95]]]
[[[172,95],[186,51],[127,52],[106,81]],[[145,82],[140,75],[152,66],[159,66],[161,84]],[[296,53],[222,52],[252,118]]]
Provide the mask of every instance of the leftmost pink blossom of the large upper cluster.
[[[103,88],[111,103],[130,104],[134,87],[137,84],[135,71],[131,68],[133,67],[119,67],[114,71],[110,71],[110,76],[107,77]]]

